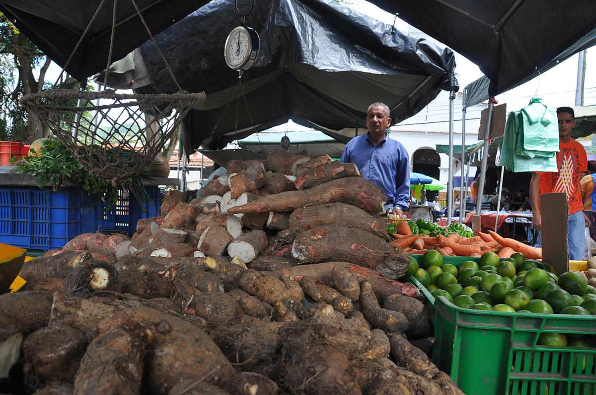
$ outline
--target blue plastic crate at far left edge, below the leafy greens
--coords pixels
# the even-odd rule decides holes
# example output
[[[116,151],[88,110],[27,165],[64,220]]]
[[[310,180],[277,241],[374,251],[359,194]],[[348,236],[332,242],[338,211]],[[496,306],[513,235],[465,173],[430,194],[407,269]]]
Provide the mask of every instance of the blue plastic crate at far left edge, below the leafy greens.
[[[0,242],[27,249],[61,248],[100,229],[98,207],[84,190],[0,186]]]

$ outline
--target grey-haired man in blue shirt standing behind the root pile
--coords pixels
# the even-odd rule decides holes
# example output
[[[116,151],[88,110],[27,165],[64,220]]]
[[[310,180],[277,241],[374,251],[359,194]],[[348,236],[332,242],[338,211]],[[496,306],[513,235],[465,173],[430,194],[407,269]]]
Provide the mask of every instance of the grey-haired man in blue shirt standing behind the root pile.
[[[409,205],[409,155],[402,143],[389,139],[389,107],[373,103],[365,118],[368,133],[356,136],[343,150],[342,162],[352,162],[364,178],[373,181],[387,196],[384,209],[402,217]]]

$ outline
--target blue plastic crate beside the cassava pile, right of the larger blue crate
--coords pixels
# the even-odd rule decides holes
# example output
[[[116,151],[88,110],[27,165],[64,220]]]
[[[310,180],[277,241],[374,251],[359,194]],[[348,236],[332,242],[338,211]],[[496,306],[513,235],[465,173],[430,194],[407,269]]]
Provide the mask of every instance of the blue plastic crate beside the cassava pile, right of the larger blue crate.
[[[100,209],[101,230],[136,232],[136,222],[141,218],[159,216],[161,206],[161,191],[159,187],[145,187],[147,199],[139,202],[132,194],[125,196],[125,191],[119,190],[116,206],[108,212]]]

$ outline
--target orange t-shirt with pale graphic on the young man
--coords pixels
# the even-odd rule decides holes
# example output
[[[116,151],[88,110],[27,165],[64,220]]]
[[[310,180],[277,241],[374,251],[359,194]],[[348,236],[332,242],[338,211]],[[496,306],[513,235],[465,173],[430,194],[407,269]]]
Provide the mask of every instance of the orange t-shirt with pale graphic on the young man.
[[[560,151],[557,153],[558,173],[539,173],[542,174],[540,193],[565,193],[569,205],[569,215],[572,215],[583,210],[579,181],[581,172],[588,169],[588,156],[583,145],[573,139],[569,143],[559,142],[559,149]]]

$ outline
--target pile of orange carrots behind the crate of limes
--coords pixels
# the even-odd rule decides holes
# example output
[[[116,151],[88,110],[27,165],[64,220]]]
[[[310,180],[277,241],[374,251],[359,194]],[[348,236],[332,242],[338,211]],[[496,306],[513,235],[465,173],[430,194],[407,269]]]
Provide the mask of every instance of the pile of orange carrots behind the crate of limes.
[[[400,222],[396,225],[396,231],[398,233],[392,234],[395,240],[389,245],[393,249],[399,247],[409,254],[423,254],[428,250],[437,250],[443,256],[481,256],[487,251],[492,251],[496,252],[499,258],[508,258],[514,252],[521,252],[529,259],[542,258],[541,248],[502,237],[492,230],[488,233],[478,232],[478,236],[474,237],[462,237],[459,233],[429,237],[425,234],[412,234],[408,224]]]

